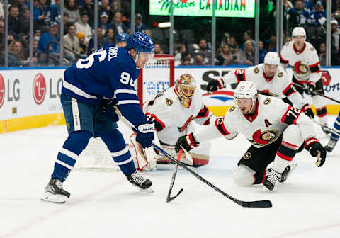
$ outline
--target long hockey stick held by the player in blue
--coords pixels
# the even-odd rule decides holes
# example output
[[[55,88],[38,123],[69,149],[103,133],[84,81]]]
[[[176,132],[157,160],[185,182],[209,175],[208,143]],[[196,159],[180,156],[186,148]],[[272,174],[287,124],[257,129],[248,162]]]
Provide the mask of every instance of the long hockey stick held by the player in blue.
[[[116,108],[116,113],[117,115],[122,115],[120,113],[120,111],[118,110],[117,107]],[[137,132],[137,129],[125,118],[121,117],[122,120],[120,120],[122,123],[124,123],[126,126],[128,126],[128,128],[130,128],[131,130],[133,130],[134,132]],[[178,164],[179,166],[181,166],[183,169],[185,169],[186,171],[188,171],[190,174],[192,174],[193,176],[195,176],[197,179],[199,179],[200,181],[202,181],[203,183],[205,183],[206,185],[210,186],[210,188],[213,188],[215,191],[217,191],[218,193],[221,193],[223,196],[229,198],[230,200],[232,200],[234,203],[237,203],[238,205],[244,207],[244,208],[271,208],[273,206],[273,204],[271,203],[270,200],[255,200],[255,201],[243,201],[243,200],[239,200],[237,198],[234,198],[232,196],[230,196],[228,193],[225,193],[224,191],[222,191],[220,188],[217,188],[217,186],[213,185],[212,183],[210,183],[208,180],[204,179],[202,176],[200,176],[199,174],[197,174],[195,171],[191,170],[188,168],[188,166],[186,166],[185,164],[183,164],[182,162],[178,161],[177,159],[175,159],[174,157],[171,156],[171,154],[168,154],[164,151],[164,149],[162,149],[161,147],[159,147],[158,145],[155,145],[154,142],[152,142],[152,146],[155,149],[158,149],[159,152],[161,152],[162,154],[164,154],[165,157],[167,157],[168,159],[170,159],[172,162],[174,162],[175,164]]]

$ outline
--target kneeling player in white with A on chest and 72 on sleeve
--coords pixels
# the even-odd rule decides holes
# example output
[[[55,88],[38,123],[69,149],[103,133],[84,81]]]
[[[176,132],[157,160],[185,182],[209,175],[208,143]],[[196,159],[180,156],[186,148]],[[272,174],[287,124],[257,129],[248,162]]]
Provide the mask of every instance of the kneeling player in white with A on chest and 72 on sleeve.
[[[276,181],[287,179],[290,162],[304,140],[313,157],[319,154],[317,166],[324,164],[326,150],[305,113],[279,98],[257,95],[251,81],[241,81],[234,98],[237,106],[229,108],[224,118],[217,118],[202,130],[180,137],[176,149],[183,146],[190,151],[202,142],[221,136],[231,140],[237,132],[242,132],[252,145],[239,160],[233,174],[234,182],[239,186],[263,183],[269,190],[273,190]],[[271,169],[266,169],[271,162]]]

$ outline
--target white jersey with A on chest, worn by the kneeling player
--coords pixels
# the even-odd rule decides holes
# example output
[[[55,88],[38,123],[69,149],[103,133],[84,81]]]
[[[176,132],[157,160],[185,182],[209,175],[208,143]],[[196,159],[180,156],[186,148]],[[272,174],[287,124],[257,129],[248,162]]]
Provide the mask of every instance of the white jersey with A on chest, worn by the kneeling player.
[[[316,137],[312,120],[305,113],[279,98],[259,95],[254,115],[244,115],[237,106],[233,106],[224,118],[215,120],[215,125],[194,132],[194,137],[198,142],[205,142],[221,134],[232,139],[237,132],[242,132],[254,147],[259,148],[275,142],[290,124],[300,128],[305,140]]]

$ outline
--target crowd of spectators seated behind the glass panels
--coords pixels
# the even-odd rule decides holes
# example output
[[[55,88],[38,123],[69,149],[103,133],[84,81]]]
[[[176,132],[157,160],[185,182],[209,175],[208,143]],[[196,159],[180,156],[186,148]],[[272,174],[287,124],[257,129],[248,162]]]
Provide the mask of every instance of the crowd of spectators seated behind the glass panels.
[[[8,66],[28,66],[30,11],[28,0],[9,0],[8,6]],[[98,47],[107,43],[124,45],[131,33],[130,9],[122,0],[98,1]],[[63,63],[72,64],[80,57],[87,57],[94,49],[94,1],[65,0],[64,15],[61,16],[61,0],[34,0],[33,65],[59,65],[60,20],[63,17],[64,45]],[[290,33],[295,26],[303,26],[307,41],[319,52],[322,65],[326,61],[326,13],[324,1],[283,0],[285,21],[287,21],[283,42],[292,40]],[[275,9],[274,9],[275,11]],[[146,13],[147,14],[147,13]],[[145,17],[146,15],[144,15]],[[340,64],[339,40],[340,11],[334,11],[331,19],[331,64]],[[142,31],[153,38],[153,26],[143,23],[143,15],[135,15],[135,31]],[[208,41],[207,41],[208,40]],[[211,65],[210,39],[201,38],[188,44],[176,43],[175,65]],[[167,53],[168,46],[155,42],[155,53]],[[4,65],[4,5],[0,1],[0,64]],[[245,30],[243,40],[237,40],[233,33],[224,33],[217,42],[215,64],[255,64],[254,33]],[[259,62],[263,62],[268,51],[276,51],[276,35],[259,41]]]

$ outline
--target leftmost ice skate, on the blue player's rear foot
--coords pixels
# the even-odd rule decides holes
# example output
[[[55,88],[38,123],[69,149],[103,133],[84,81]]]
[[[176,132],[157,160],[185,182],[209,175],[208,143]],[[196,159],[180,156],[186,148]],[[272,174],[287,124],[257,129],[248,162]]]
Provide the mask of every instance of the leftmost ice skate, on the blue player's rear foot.
[[[49,203],[65,203],[69,196],[71,193],[62,188],[62,181],[51,178],[45,187],[45,196],[41,200]]]

